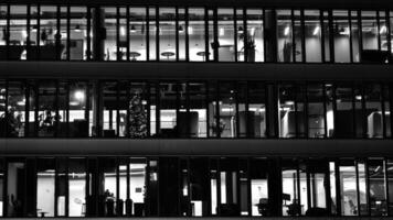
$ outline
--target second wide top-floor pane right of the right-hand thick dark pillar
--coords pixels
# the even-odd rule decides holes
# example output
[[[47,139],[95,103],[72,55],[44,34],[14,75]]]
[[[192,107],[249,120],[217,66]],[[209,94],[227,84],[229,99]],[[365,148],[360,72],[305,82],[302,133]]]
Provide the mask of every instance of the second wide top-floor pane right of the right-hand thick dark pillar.
[[[305,10],[306,62],[322,61],[322,42],[319,10]]]

